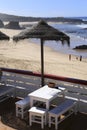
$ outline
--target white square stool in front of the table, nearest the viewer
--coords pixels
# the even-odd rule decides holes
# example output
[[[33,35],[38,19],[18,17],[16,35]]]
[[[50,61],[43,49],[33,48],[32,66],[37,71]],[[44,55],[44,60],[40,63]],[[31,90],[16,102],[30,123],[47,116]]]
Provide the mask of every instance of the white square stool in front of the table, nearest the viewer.
[[[46,109],[39,107],[31,107],[29,110],[29,124],[32,125],[32,122],[41,124],[41,128],[44,128],[46,125]]]

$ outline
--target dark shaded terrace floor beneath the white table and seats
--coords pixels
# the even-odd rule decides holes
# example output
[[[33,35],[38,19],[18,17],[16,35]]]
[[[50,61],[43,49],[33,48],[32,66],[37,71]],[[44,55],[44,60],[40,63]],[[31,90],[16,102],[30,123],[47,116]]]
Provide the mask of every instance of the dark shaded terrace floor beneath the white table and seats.
[[[0,118],[1,123],[15,130],[41,130],[40,124],[34,124],[31,127],[28,125],[28,116],[22,120],[15,116],[15,102],[18,99],[10,98],[0,103]],[[44,130],[54,130],[54,126],[49,128],[45,126]],[[0,128],[1,130],[1,128]],[[5,129],[11,130],[11,129]],[[69,118],[65,119],[59,124],[58,130],[87,130],[87,114],[77,113],[72,114]]]

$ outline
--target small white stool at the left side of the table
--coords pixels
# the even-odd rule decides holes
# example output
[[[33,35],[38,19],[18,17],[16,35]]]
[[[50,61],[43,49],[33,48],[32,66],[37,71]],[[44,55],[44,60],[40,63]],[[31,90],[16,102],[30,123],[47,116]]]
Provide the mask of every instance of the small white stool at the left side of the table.
[[[16,103],[16,116],[21,118],[24,118],[24,115],[28,112],[29,106],[30,106],[30,100],[29,97],[25,97],[24,99],[21,99],[17,101]]]

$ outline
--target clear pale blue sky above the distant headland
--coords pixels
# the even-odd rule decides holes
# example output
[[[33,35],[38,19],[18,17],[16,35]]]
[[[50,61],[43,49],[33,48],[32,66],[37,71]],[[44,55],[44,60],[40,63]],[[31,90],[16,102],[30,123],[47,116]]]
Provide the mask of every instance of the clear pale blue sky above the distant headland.
[[[87,0],[0,0],[0,13],[32,17],[87,16]]]

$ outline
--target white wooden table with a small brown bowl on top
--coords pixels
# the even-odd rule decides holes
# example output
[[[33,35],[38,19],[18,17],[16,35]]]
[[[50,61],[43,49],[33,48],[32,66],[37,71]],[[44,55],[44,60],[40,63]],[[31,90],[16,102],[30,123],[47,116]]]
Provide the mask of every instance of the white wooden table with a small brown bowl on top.
[[[46,103],[46,109],[49,110],[50,101],[55,99],[58,96],[58,93],[61,93],[61,90],[50,88],[48,85],[28,94],[30,98],[30,107],[33,106],[34,101],[41,101]]]

